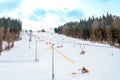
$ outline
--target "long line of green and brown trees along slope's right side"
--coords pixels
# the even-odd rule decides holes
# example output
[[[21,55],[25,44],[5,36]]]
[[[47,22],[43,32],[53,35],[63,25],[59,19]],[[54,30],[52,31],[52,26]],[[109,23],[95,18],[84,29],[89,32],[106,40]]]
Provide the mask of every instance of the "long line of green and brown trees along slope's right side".
[[[92,16],[88,20],[68,22],[54,28],[54,31],[74,38],[120,47],[120,17],[108,13],[99,18]]]

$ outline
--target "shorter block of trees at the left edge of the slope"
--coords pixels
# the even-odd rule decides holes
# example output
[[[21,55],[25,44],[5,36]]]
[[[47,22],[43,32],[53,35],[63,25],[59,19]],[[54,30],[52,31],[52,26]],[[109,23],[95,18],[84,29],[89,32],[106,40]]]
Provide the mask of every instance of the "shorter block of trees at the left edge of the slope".
[[[4,50],[9,50],[14,46],[14,41],[20,39],[21,30],[22,21],[20,19],[0,18],[0,55],[3,51],[3,41],[7,42]]]

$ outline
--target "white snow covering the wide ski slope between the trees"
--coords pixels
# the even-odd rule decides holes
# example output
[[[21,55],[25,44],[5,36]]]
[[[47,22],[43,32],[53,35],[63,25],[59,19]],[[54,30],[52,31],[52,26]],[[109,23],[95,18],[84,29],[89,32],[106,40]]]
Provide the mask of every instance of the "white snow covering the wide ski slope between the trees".
[[[120,80],[120,49],[47,32],[34,32],[30,48],[24,33],[14,48],[2,52],[0,80],[52,80],[53,43],[55,80]],[[81,73],[83,66],[90,72]]]

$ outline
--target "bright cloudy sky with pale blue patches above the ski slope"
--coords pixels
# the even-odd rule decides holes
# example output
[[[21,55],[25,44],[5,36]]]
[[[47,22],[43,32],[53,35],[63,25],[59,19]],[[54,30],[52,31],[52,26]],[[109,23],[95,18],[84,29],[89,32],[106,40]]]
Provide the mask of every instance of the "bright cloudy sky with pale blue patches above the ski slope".
[[[0,18],[17,18],[27,30],[50,30],[70,21],[120,16],[120,0],[0,0]]]

